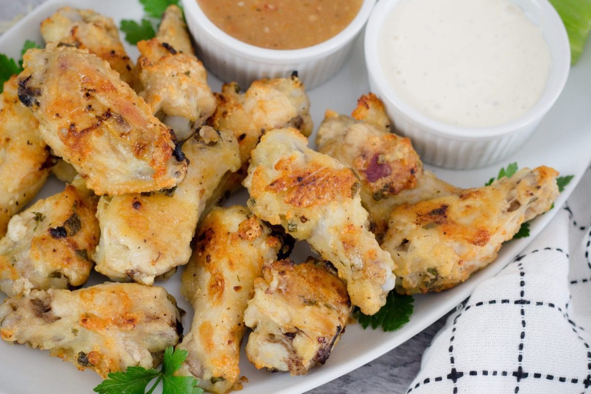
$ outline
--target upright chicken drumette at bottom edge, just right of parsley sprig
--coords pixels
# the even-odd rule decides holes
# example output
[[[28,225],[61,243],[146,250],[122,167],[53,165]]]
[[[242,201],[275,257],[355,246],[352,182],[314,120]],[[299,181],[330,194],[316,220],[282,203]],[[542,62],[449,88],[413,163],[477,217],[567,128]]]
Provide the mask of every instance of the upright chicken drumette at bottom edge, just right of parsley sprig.
[[[241,206],[213,209],[200,225],[181,292],[193,304],[191,331],[178,348],[189,351],[180,375],[225,393],[238,381],[242,323],[262,265],[277,259],[281,242],[271,229]]]

